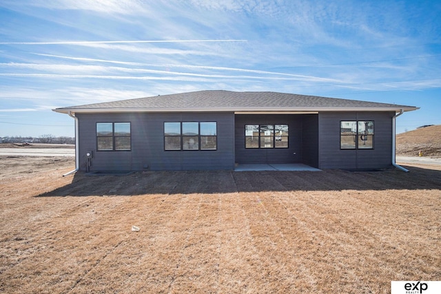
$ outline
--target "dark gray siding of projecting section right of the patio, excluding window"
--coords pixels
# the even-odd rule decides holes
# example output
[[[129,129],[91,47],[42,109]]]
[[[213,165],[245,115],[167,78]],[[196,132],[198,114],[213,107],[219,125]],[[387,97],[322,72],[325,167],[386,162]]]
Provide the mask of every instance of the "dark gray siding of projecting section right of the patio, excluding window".
[[[318,116],[320,169],[391,167],[393,112],[325,112]],[[340,120],[373,120],[374,149],[340,149]]]

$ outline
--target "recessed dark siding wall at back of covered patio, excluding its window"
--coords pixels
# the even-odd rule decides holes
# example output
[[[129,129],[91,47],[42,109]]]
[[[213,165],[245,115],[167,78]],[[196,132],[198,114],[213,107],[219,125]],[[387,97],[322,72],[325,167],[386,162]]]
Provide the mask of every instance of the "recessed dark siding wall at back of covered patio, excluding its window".
[[[245,125],[264,124],[287,124],[289,127],[289,148],[245,149]],[[302,162],[302,120],[300,116],[287,114],[236,115],[235,134],[237,163]]]

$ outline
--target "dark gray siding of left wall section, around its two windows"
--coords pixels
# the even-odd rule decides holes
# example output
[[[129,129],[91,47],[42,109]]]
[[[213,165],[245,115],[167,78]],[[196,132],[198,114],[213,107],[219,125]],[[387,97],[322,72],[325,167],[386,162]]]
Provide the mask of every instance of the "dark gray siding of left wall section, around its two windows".
[[[234,114],[78,114],[80,169],[93,151],[90,171],[234,169]],[[164,122],[216,121],[217,150],[165,151]],[[96,123],[130,122],[131,151],[96,151]]]

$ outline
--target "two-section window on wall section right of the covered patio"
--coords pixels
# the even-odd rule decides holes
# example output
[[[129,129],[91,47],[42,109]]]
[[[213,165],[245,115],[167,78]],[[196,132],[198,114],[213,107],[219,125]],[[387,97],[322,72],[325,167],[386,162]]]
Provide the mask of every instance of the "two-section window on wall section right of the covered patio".
[[[373,149],[373,120],[341,121],[340,149]]]

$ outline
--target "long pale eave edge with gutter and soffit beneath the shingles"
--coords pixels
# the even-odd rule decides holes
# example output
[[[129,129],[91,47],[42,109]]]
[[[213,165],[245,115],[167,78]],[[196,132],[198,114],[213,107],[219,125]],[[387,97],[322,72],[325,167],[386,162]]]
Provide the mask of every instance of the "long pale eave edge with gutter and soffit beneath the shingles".
[[[57,108],[52,109],[54,112],[68,114],[69,112],[76,114],[95,114],[95,113],[158,113],[158,112],[234,112],[234,114],[318,114],[318,112],[410,112],[420,109],[420,107],[319,107],[319,108],[259,108],[259,107],[243,107],[243,108]]]

